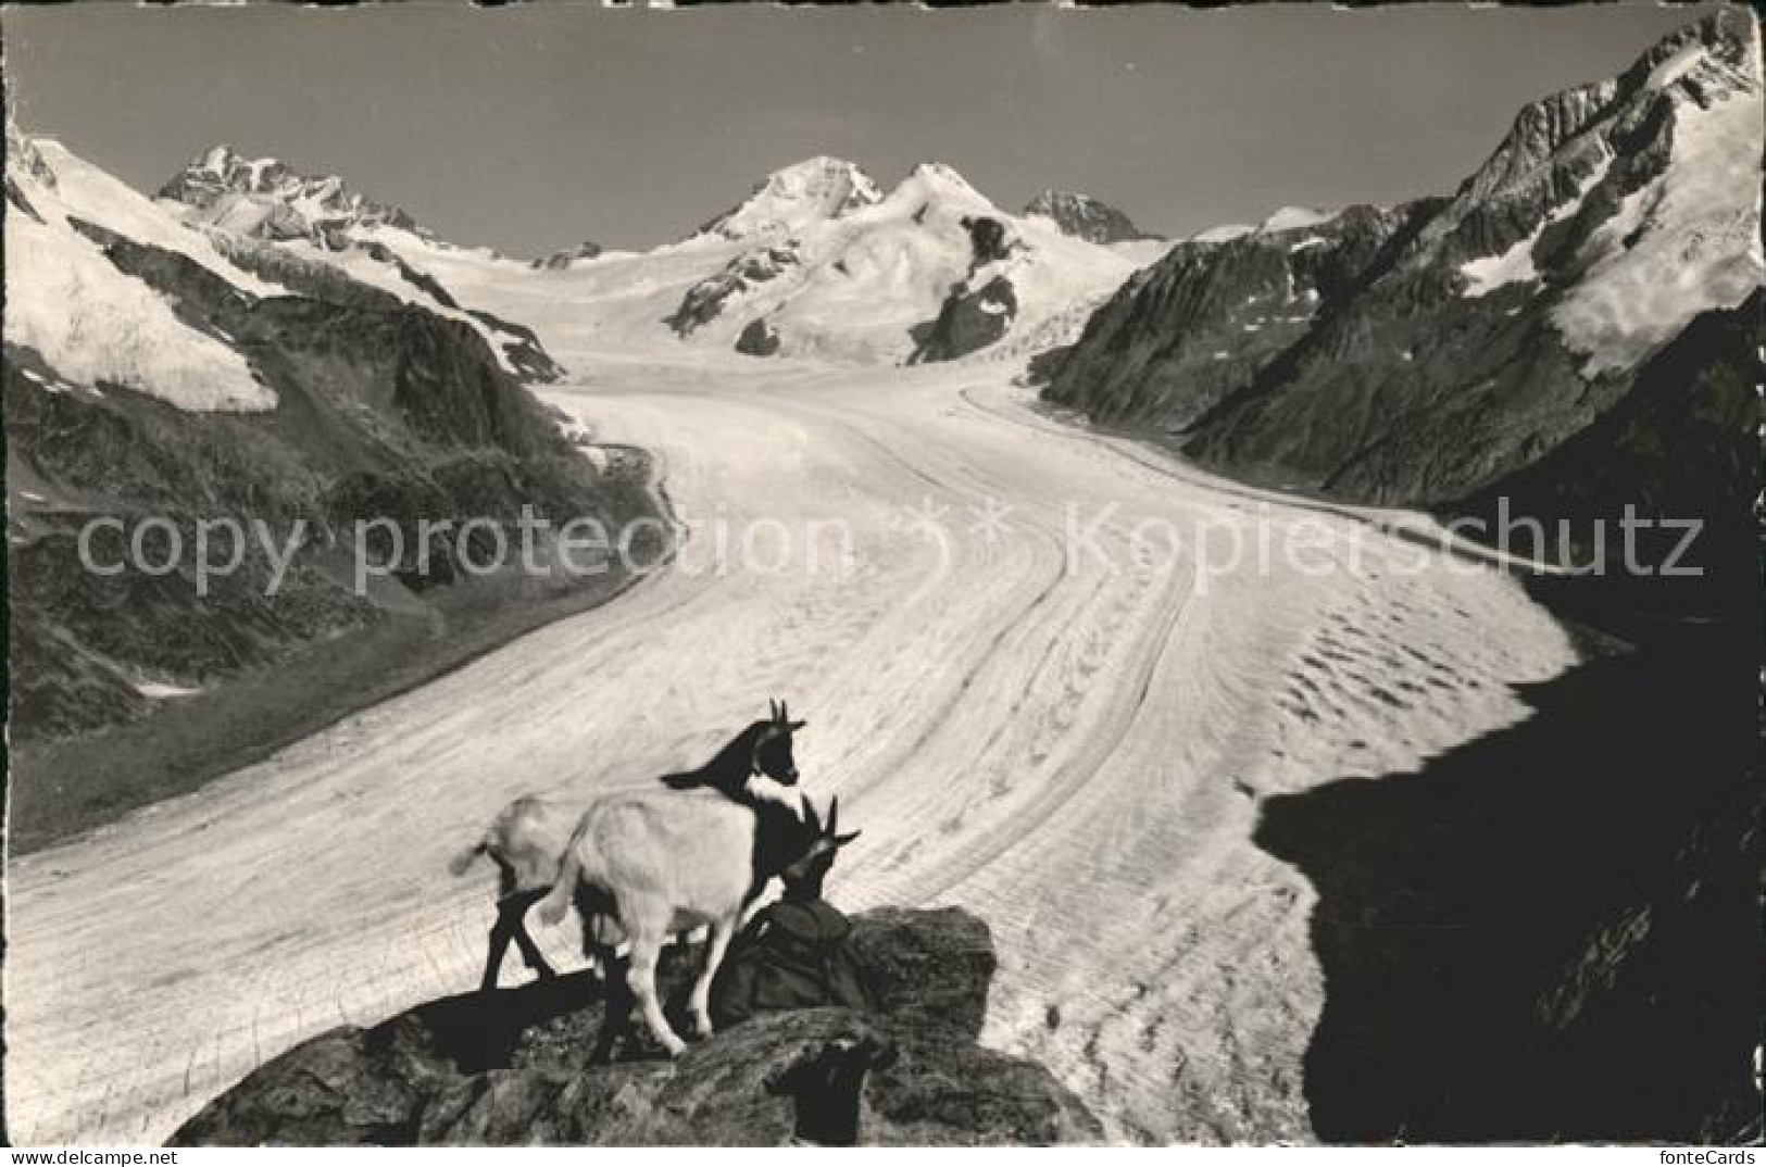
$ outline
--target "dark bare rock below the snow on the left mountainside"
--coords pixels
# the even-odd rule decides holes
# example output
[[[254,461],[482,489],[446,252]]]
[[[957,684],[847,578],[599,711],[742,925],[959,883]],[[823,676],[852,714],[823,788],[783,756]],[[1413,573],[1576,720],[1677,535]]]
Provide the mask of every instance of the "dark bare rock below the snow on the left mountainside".
[[[336,583],[318,570],[332,553],[350,553],[357,521],[390,516],[410,528],[404,551],[415,572],[420,517],[507,523],[528,503],[562,521],[630,516],[646,505],[641,482],[600,482],[463,323],[362,290],[346,302],[245,302],[182,256],[117,237],[104,242],[118,268],[177,297],[184,320],[233,337],[279,403],[268,415],[221,415],[115,388],[46,392],[26,374],[53,378],[53,369],[28,348],[7,346],[9,466],[30,473],[34,494],[60,500],[25,507],[12,523],[14,664],[35,662],[14,671],[18,740],[97,727],[147,706],[140,696],[90,699],[83,687],[64,685],[64,673],[90,666],[113,678],[106,689],[129,674],[200,687],[274,660],[337,621],[366,618],[369,606],[343,593],[348,565],[339,563]],[[95,514],[171,514],[189,526],[187,546],[198,519],[261,519],[283,533],[302,521],[311,542],[297,567],[314,574],[295,595],[237,597],[245,611],[235,621],[224,600],[203,602],[187,577],[78,570],[78,531]],[[30,590],[39,577],[42,595]],[[261,597],[263,583],[247,572],[215,586]],[[94,588],[101,595],[90,595]],[[131,591],[136,602],[125,602]]]

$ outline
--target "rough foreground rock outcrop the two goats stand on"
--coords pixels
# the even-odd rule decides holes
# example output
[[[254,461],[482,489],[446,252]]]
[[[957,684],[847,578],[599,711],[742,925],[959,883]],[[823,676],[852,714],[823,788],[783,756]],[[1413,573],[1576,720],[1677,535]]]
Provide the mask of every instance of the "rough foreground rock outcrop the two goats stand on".
[[[994,953],[959,911],[853,920],[876,1013],[763,1013],[689,1047],[586,1065],[602,1019],[588,973],[434,1001],[320,1035],[254,1070],[173,1146],[1058,1144],[1102,1135],[1035,1063],[977,1043]],[[664,960],[678,1001],[698,950]]]

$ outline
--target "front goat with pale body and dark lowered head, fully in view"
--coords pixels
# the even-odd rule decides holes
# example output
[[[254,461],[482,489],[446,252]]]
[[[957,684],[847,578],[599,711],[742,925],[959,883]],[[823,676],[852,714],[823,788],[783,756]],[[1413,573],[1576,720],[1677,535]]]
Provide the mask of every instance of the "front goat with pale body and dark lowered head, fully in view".
[[[819,821],[812,830],[770,800],[738,803],[694,787],[606,794],[577,823],[540,920],[558,923],[574,900],[588,936],[592,916],[615,916],[630,941],[622,1006],[638,1005],[657,1042],[680,1056],[687,1043],[662,1017],[655,987],[662,943],[671,932],[706,925],[705,967],[689,1010],[699,1036],[710,1036],[712,978],[745,909],[770,877],[804,860],[818,863],[821,833]],[[830,846],[819,849],[832,863]],[[609,1003],[597,1058],[611,1047],[616,1024]]]

